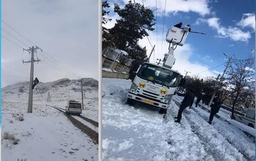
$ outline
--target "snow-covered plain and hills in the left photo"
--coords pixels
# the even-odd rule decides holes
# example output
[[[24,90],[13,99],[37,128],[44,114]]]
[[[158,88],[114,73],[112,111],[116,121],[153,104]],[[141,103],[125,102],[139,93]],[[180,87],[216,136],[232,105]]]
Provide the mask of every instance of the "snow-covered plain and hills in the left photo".
[[[85,78],[84,82],[83,115],[98,121],[97,81]],[[28,82],[2,88],[2,160],[98,160],[99,145],[62,112],[47,106],[65,108],[70,99],[81,101],[79,89],[77,80],[40,83],[34,90],[33,113],[27,113]]]

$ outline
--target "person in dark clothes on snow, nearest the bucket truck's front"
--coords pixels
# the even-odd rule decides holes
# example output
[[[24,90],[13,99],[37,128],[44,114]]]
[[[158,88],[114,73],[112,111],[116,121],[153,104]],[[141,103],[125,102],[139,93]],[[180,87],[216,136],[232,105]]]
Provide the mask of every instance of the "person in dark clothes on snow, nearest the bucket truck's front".
[[[191,108],[191,106],[193,105],[194,99],[195,99],[195,94],[193,94],[193,89],[192,88],[188,88],[186,94],[177,93],[177,95],[184,97],[183,101],[180,104],[180,109],[179,109],[178,116],[175,117],[175,118],[177,118],[177,120],[175,120],[175,122],[180,123],[182,112],[188,106],[189,106],[189,108]]]

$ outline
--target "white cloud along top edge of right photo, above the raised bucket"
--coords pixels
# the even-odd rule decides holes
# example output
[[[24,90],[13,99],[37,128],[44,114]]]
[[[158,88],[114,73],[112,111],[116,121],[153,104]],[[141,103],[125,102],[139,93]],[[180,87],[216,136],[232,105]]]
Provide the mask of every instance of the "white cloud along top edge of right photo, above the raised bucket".
[[[129,0],[124,0],[124,3],[128,2]],[[142,4],[142,0],[137,0],[136,3]],[[143,3],[147,7],[156,8],[156,0],[143,0]],[[208,15],[210,13],[208,3],[209,1],[207,0],[166,0],[166,14],[177,13],[179,11],[193,11],[200,15]],[[157,1],[157,10],[159,11],[159,13],[163,13],[164,1]]]

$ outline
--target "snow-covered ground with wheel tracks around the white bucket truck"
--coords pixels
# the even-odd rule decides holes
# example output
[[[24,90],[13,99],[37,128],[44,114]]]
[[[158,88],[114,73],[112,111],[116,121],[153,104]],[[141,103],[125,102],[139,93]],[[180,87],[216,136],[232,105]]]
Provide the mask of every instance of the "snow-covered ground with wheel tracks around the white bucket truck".
[[[129,80],[103,79],[102,150],[104,160],[253,160],[253,140],[227,122],[207,123],[204,109],[172,102],[166,118],[157,111],[125,104]],[[122,92],[121,92],[122,91]],[[179,103],[181,99],[175,97]]]

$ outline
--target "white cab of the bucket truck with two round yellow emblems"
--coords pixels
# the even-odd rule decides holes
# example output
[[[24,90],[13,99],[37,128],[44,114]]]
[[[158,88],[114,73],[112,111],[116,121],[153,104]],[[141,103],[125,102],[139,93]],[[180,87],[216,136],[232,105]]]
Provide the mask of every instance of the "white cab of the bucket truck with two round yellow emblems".
[[[156,106],[166,113],[180,78],[180,73],[145,62],[138,69],[127,95],[127,103],[136,101]],[[160,112],[159,111],[159,112]]]

